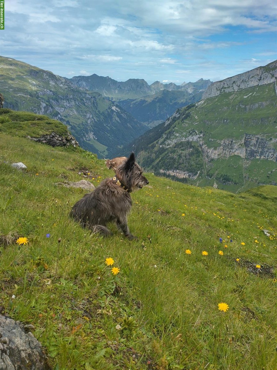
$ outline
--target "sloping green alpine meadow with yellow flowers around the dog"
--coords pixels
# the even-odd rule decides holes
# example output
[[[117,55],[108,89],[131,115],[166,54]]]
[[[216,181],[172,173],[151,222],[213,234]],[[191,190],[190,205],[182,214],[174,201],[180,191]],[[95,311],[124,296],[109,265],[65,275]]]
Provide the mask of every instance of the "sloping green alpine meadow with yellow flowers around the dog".
[[[85,170],[94,185],[113,174],[82,149],[0,132],[0,240],[29,240],[0,244],[0,309],[31,325],[52,369],[276,370],[277,187],[237,195],[146,174],[130,242],[69,219],[85,192],[55,184]]]

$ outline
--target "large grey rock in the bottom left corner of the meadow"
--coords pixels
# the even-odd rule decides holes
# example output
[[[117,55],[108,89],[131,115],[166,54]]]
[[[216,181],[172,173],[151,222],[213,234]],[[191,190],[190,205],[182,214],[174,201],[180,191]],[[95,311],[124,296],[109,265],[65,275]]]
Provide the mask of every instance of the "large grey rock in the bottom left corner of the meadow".
[[[50,370],[41,344],[19,321],[0,315],[0,370]]]

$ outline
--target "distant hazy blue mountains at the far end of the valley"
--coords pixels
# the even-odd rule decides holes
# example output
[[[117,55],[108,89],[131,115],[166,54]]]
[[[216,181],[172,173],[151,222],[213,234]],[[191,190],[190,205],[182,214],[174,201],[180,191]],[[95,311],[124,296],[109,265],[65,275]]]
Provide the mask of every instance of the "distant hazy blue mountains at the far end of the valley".
[[[154,127],[170,117],[177,108],[184,107],[202,98],[210,80],[200,78],[196,82],[163,84],[155,81],[148,85],[145,80],[130,78],[125,82],[110,77],[75,76],[73,84],[89,91],[100,92],[105,97],[117,102],[136,120],[148,127]]]

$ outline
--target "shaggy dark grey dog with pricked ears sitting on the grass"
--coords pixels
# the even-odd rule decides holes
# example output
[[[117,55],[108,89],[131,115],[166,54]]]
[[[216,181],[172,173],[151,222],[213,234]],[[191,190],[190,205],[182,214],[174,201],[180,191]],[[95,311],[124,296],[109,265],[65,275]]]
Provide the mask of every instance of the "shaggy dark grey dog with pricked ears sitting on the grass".
[[[106,227],[107,222],[115,221],[128,239],[136,238],[129,231],[127,214],[132,206],[130,192],[149,184],[142,172],[135,162],[134,153],[131,153],[128,160],[116,169],[113,178],[103,180],[93,192],[85,194],[73,205],[71,215],[83,227],[105,236],[112,235]]]

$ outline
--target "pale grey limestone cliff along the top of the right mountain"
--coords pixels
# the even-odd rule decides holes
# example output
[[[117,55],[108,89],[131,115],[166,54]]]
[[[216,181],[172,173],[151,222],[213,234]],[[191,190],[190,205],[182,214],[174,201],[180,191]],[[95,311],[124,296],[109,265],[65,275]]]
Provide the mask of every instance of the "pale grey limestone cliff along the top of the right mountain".
[[[225,80],[214,82],[213,84],[209,85],[207,90],[204,92],[202,99],[217,96],[222,92],[234,92],[256,85],[266,85],[270,83],[275,83],[275,90],[277,91],[276,80],[277,60],[267,64],[264,67],[258,67],[251,71],[226,78]]]

